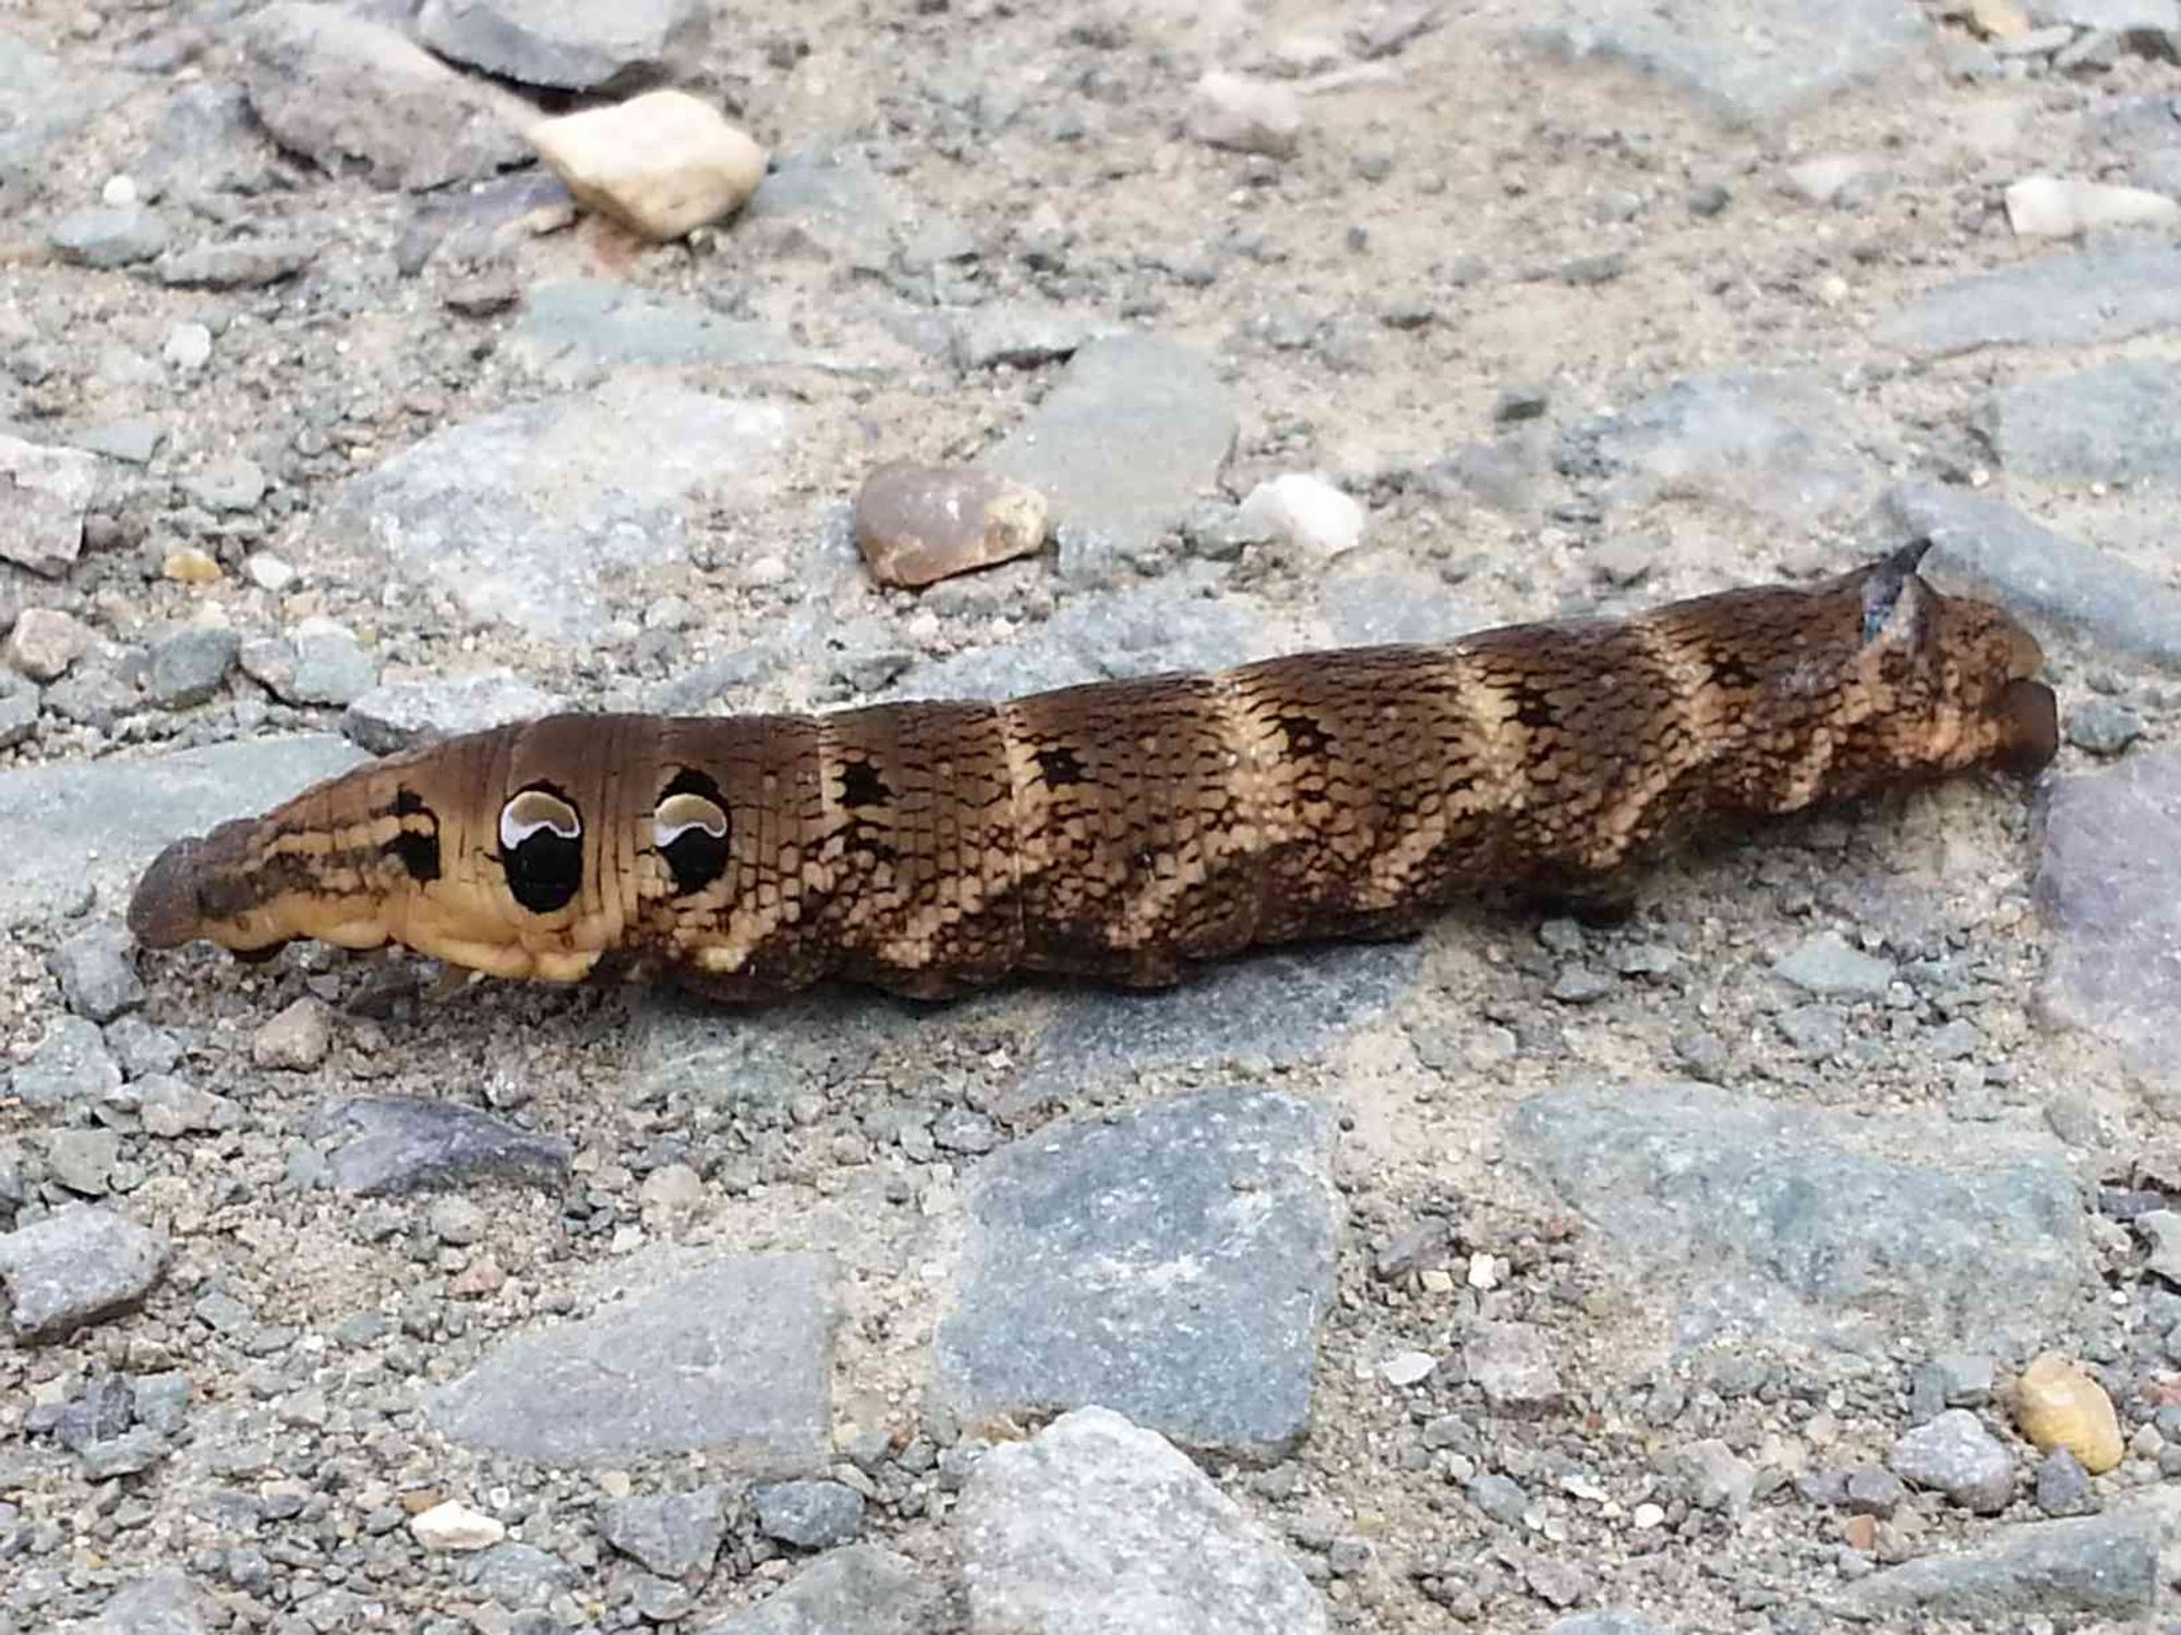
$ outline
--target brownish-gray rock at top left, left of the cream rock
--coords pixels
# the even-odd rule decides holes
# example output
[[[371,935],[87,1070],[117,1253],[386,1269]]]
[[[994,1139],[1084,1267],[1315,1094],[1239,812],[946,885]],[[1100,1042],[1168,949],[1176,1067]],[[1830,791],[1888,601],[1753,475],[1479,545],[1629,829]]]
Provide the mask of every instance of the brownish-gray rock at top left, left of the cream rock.
[[[244,39],[251,109],[323,170],[423,190],[532,157],[521,131],[537,109],[340,7],[281,0],[249,20]]]

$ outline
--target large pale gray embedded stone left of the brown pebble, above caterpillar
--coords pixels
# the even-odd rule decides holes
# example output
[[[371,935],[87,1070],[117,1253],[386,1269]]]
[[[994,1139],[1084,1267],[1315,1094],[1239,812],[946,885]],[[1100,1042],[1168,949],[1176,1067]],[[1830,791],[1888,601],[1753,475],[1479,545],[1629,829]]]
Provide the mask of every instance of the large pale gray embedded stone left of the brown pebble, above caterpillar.
[[[475,619],[578,639],[600,576],[685,560],[683,501],[781,480],[794,412],[659,382],[608,382],[447,427],[351,480],[325,525],[445,586]]]

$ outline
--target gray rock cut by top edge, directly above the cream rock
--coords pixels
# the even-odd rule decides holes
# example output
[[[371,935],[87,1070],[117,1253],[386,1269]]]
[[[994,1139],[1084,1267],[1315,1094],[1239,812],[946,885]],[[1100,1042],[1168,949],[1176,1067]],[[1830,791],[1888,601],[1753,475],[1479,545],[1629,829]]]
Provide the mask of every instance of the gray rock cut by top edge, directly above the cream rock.
[[[425,0],[417,37],[523,85],[626,89],[687,70],[711,31],[704,0]]]

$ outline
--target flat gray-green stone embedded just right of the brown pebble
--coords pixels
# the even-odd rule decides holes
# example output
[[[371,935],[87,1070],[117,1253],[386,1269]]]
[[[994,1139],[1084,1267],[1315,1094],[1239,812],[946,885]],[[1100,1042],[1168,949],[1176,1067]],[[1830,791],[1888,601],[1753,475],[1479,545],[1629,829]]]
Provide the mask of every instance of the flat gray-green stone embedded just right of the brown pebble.
[[[977,462],[1051,506],[1060,569],[1099,580],[1180,528],[1234,447],[1234,395],[1210,362],[1156,336],[1108,336]]]

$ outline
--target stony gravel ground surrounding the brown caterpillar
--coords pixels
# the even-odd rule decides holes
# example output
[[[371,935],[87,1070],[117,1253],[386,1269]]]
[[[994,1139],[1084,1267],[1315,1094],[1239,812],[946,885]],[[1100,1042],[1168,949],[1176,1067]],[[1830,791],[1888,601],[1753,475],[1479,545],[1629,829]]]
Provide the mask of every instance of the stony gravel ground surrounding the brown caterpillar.
[[[2181,9],[1660,11],[9,7],[0,1635],[2181,1618]],[[652,246],[519,126],[659,81],[770,170]],[[1047,543],[881,584],[899,460]],[[1610,929],[744,1014],[118,922],[434,730],[1913,532],[2041,787]]]

